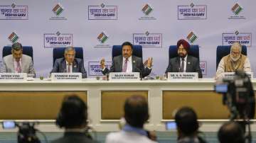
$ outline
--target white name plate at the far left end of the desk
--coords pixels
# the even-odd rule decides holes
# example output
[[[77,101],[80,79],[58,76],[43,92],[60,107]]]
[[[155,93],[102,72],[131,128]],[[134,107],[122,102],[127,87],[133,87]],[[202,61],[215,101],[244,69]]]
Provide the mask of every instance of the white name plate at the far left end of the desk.
[[[26,81],[26,73],[0,73],[0,81]]]

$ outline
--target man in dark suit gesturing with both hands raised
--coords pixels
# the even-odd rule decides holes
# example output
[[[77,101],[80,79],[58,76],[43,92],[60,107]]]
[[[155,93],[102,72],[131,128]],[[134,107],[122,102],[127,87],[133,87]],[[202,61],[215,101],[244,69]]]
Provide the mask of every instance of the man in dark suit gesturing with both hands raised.
[[[109,74],[110,72],[139,72],[142,77],[149,75],[152,67],[152,57],[147,59],[146,67],[144,67],[142,58],[132,55],[132,48],[130,42],[124,42],[122,44],[122,55],[113,58],[110,69],[105,67],[105,59],[101,59],[102,74]]]

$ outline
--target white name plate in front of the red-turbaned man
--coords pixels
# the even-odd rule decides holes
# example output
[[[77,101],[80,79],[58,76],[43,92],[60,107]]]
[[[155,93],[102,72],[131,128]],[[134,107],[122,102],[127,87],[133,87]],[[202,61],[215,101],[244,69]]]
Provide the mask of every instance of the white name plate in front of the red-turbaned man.
[[[169,72],[168,80],[169,81],[198,80],[198,73],[197,72]]]

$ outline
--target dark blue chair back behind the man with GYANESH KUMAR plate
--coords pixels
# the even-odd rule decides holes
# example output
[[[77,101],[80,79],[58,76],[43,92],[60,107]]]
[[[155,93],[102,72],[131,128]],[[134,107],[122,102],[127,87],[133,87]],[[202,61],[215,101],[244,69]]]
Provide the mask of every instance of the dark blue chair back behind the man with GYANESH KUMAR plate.
[[[75,48],[75,58],[80,58],[83,60],[83,50],[82,47]],[[53,48],[53,65],[56,59],[64,57],[65,47],[54,47]]]

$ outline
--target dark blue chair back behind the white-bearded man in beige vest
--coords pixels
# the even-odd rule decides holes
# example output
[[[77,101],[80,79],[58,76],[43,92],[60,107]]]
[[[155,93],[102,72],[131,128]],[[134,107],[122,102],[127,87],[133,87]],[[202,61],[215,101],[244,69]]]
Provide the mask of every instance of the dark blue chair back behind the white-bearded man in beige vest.
[[[220,63],[220,60],[226,56],[230,54],[230,47],[231,45],[219,45],[217,47],[217,51],[216,51],[216,70],[218,68],[218,64]],[[245,45],[242,45],[242,54],[243,55],[247,55],[247,48]]]

